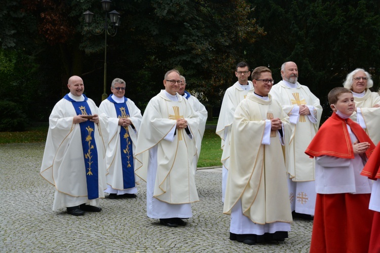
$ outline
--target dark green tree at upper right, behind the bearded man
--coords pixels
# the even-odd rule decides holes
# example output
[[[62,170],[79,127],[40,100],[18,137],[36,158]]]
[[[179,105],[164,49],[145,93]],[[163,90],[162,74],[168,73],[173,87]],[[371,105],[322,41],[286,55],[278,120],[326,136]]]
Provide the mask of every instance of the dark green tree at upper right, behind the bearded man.
[[[255,66],[270,66],[282,79],[281,64],[294,61],[299,81],[326,104],[327,93],[342,86],[361,67],[372,74],[375,90],[380,66],[380,15],[377,1],[250,1],[257,23],[267,32],[252,44]],[[253,53],[253,54],[252,54]],[[325,107],[327,109],[327,107]],[[329,115],[329,110],[325,114]]]

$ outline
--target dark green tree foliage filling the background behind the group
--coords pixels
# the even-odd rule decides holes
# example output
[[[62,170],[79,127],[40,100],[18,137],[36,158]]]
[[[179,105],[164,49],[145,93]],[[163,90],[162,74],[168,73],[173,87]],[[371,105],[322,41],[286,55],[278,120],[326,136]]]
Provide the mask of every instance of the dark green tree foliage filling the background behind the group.
[[[143,111],[178,68],[187,89],[218,107],[235,81],[235,66],[280,67],[294,61],[299,82],[325,103],[355,68],[369,71],[373,91],[380,82],[380,2],[375,0],[113,0],[122,23],[107,38],[107,94],[112,79],[127,82],[126,96]],[[88,27],[82,13],[96,14]],[[85,94],[98,105],[103,93],[104,13],[100,1],[16,0],[0,11],[0,96],[24,101],[30,118],[46,120],[49,108],[80,75]],[[41,109],[39,109],[41,108]],[[216,111],[216,110],[215,110]],[[325,110],[324,113],[329,113]],[[324,115],[325,116],[325,115]]]

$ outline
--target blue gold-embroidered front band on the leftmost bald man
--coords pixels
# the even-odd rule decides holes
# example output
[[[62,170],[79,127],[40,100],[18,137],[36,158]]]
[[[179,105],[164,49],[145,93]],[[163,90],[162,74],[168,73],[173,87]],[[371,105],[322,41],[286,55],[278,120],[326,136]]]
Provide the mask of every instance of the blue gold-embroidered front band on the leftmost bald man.
[[[63,98],[70,101],[75,109],[77,115],[91,115],[90,106],[87,104],[88,98],[85,97],[84,101],[77,102],[71,99],[68,94]],[[88,199],[99,198],[99,183],[98,183],[98,152],[95,143],[95,123],[87,120],[79,123],[81,127],[82,149],[83,157],[85,159],[86,167],[86,181],[87,181],[87,195]]]

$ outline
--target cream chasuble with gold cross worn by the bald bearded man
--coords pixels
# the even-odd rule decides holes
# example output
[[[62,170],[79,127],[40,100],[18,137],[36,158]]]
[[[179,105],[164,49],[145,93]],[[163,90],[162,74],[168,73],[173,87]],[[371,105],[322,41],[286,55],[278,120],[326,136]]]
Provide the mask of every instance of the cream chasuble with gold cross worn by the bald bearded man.
[[[289,88],[284,81],[278,82],[270,91],[273,99],[280,102],[282,109],[289,116],[294,106],[311,105],[315,110],[317,122],[310,121],[308,116],[299,115],[294,129],[294,139],[290,140],[288,173],[292,181],[314,181],[315,161],[305,155],[305,150],[319,128],[322,115],[322,106],[319,99],[313,95],[307,86],[297,82],[296,88]]]

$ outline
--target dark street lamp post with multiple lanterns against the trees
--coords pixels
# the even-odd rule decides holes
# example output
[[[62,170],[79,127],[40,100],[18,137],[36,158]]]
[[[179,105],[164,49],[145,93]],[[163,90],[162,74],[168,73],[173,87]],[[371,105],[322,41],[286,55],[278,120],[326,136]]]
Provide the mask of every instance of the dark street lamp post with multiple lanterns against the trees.
[[[107,79],[107,35],[113,37],[118,32],[118,27],[120,26],[120,15],[117,11],[113,10],[109,12],[111,8],[111,1],[110,0],[102,0],[100,1],[102,4],[102,9],[105,14],[104,18],[104,27],[100,32],[92,32],[92,34],[100,35],[104,32],[104,84],[103,84],[103,94],[102,94],[102,101],[107,98],[106,93],[106,79]],[[109,20],[107,18],[107,14],[109,15]],[[92,18],[94,16],[94,13],[90,11],[86,11],[83,13],[85,16],[85,22],[87,24],[91,24]]]

